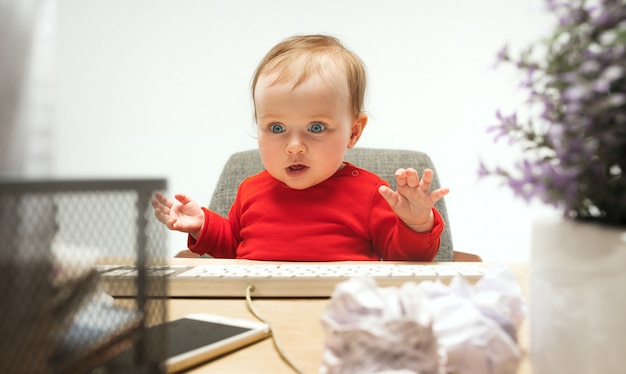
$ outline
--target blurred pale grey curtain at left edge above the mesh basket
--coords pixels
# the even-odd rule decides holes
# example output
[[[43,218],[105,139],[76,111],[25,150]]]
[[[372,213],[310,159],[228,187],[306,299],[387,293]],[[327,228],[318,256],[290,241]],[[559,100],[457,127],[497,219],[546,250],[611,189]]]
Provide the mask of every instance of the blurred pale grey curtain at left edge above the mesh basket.
[[[0,176],[48,176],[55,120],[54,0],[2,2]]]

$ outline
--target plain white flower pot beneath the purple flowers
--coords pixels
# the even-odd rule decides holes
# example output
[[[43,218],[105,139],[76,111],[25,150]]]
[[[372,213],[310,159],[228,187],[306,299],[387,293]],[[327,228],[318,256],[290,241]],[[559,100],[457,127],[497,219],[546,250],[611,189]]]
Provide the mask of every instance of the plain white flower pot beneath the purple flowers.
[[[532,235],[533,374],[626,373],[626,228],[544,217]]]

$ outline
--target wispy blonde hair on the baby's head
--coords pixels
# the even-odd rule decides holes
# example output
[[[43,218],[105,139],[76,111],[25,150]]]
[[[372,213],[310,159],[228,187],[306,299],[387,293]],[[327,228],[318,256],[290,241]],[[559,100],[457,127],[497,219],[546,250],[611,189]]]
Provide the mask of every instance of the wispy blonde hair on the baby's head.
[[[259,77],[273,72],[273,83],[293,81],[294,87],[312,74],[325,77],[339,70],[345,73],[354,116],[363,112],[367,77],[363,61],[341,42],[328,35],[297,35],[274,46],[261,60],[252,79],[252,100]],[[256,112],[256,103],[255,112]],[[256,113],[255,113],[256,117]]]

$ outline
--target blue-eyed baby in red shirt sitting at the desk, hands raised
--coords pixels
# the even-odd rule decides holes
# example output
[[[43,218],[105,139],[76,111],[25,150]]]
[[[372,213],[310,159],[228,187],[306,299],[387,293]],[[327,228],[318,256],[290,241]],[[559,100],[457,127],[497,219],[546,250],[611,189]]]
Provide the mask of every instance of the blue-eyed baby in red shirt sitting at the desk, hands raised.
[[[189,234],[189,249],[276,261],[432,261],[443,220],[433,172],[395,173],[397,191],[344,161],[367,124],[365,67],[334,37],[303,35],[272,48],[252,97],[265,170],[244,180],[228,217],[157,193],[155,215]]]

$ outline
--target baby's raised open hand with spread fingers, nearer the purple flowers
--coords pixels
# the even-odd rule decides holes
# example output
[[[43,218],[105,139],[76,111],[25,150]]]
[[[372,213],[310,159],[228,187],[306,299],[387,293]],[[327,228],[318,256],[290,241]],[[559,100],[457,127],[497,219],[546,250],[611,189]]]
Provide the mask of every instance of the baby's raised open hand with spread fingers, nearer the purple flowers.
[[[449,188],[440,188],[429,192],[433,182],[433,171],[424,170],[422,179],[415,169],[398,169],[395,173],[398,190],[381,186],[378,192],[389,203],[391,209],[413,231],[426,232],[433,228],[432,212],[435,202],[450,192]]]

